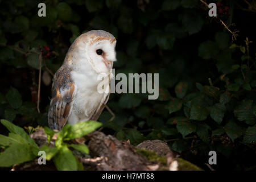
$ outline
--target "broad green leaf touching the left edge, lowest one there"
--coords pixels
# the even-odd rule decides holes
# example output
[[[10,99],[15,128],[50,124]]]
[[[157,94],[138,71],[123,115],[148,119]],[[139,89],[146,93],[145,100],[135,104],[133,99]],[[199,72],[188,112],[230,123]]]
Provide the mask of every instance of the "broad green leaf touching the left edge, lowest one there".
[[[0,167],[11,167],[14,164],[28,162],[35,159],[31,146],[28,144],[13,143],[0,155]]]

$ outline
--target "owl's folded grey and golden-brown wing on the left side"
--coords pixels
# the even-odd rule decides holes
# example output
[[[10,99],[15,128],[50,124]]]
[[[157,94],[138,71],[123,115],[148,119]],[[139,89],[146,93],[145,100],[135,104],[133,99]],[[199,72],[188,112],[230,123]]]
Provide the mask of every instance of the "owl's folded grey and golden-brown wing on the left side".
[[[77,87],[72,82],[70,73],[69,68],[61,67],[53,77],[52,100],[48,112],[51,129],[61,130],[71,114]]]

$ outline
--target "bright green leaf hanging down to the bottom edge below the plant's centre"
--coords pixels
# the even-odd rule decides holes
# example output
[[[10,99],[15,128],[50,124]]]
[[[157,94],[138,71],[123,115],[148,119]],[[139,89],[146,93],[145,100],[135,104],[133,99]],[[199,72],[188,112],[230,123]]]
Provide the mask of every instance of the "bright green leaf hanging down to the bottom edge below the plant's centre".
[[[59,171],[77,171],[75,156],[67,146],[62,146],[59,152],[53,157],[53,162]]]

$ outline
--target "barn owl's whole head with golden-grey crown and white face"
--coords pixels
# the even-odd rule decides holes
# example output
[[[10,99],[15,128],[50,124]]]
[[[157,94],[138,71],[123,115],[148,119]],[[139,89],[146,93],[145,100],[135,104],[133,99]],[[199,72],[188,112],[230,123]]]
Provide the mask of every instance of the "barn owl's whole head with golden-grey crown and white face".
[[[109,73],[115,58],[114,36],[104,30],[92,30],[80,35],[69,51],[76,51],[82,61],[88,61],[97,73]]]

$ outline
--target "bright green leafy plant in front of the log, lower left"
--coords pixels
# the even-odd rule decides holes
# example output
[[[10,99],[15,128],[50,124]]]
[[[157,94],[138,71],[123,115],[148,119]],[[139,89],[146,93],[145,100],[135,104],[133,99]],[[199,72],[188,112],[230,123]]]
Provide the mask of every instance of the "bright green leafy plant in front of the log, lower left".
[[[89,154],[88,147],[85,144],[69,144],[67,141],[83,137],[101,126],[101,123],[96,121],[79,122],[73,126],[67,124],[57,133],[55,147],[43,145],[39,148],[22,128],[5,119],[1,119],[1,123],[10,133],[8,137],[0,135],[0,146],[5,148],[5,151],[0,154],[0,167],[10,167],[14,164],[34,160],[38,157],[39,151],[44,151],[46,152],[46,160],[53,160],[58,170],[83,169],[82,164],[68,147]],[[49,144],[56,132],[48,127],[44,127],[44,132],[47,134]]]

